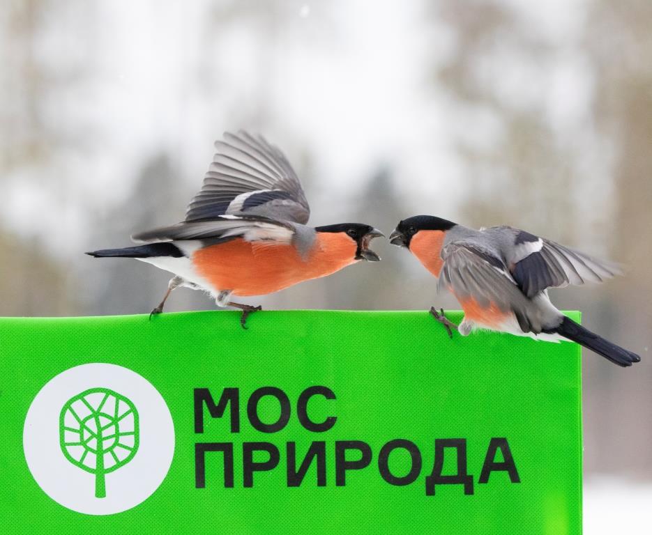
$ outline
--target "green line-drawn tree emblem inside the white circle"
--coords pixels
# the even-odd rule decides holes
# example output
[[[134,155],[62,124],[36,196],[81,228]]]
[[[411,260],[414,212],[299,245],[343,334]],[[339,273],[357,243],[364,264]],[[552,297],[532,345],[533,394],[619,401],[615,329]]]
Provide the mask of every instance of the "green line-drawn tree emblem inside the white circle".
[[[63,405],[59,437],[63,455],[95,474],[95,497],[104,498],[106,474],[129,463],[138,451],[138,411],[116,391],[91,388]]]

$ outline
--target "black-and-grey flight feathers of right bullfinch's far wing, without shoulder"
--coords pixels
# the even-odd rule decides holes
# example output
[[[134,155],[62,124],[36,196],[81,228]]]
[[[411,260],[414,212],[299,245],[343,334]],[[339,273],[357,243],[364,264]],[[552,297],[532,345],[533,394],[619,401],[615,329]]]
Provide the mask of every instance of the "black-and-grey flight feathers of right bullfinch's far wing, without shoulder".
[[[527,297],[545,288],[602,282],[621,274],[619,265],[597,260],[589,255],[541,240],[539,251],[534,251],[513,264],[511,273]]]

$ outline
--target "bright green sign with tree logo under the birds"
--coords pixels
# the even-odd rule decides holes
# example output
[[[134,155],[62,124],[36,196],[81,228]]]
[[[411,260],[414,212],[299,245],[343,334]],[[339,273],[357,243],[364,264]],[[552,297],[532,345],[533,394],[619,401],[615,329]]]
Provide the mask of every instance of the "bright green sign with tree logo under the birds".
[[[0,319],[0,532],[581,532],[579,346],[238,317]]]

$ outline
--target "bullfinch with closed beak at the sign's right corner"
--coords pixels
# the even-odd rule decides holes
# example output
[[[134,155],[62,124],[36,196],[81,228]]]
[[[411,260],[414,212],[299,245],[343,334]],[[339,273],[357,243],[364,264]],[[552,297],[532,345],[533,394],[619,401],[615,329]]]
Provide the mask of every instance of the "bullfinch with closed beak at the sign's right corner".
[[[601,282],[619,274],[618,265],[597,260],[559,243],[510,226],[479,231],[440,217],[403,219],[390,235],[406,247],[462,305],[455,325],[434,307],[430,313],[462,336],[491,329],[534,339],[568,339],[619,366],[639,362],[635,353],[611,343],[564,316],[547,288]]]

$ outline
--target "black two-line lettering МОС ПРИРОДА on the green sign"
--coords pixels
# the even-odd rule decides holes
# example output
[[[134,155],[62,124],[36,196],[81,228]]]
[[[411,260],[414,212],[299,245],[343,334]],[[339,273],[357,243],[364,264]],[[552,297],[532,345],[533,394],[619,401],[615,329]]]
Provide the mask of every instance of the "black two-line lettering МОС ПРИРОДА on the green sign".
[[[336,399],[332,389],[320,385],[304,389],[296,399],[296,403],[292,403],[282,389],[261,387],[248,397],[245,405],[246,421],[255,430],[273,435],[287,426],[294,407],[296,418],[303,430],[308,433],[326,433],[337,424],[338,417],[336,414],[329,414],[325,418],[313,419],[308,411],[308,403],[317,396],[326,401]],[[263,421],[260,417],[259,407],[265,398],[273,400],[273,403],[278,403],[280,407],[279,416],[275,421]],[[219,396],[214,396],[210,389],[195,388],[193,403],[196,435],[206,432],[211,419],[225,419],[229,422],[230,433],[240,433],[243,419],[241,419],[241,395],[238,388],[222,389]],[[209,418],[208,421],[206,417]],[[223,428],[225,426],[222,424],[220,429]],[[315,435],[315,438],[321,436],[324,435]],[[257,472],[284,470],[284,468],[288,487],[298,487],[303,483],[309,485],[311,483],[307,474],[313,464],[316,467],[316,477],[312,480],[314,485],[324,487],[334,484],[336,487],[342,487],[346,486],[347,472],[367,469],[365,473],[373,476],[372,465],[375,465],[383,481],[392,486],[409,486],[422,477],[426,495],[435,495],[437,485],[460,485],[464,495],[473,495],[475,492],[473,474],[469,473],[467,466],[467,440],[460,437],[432,437],[432,443],[434,443],[434,462],[432,469],[428,470],[423,463],[422,451],[415,442],[405,437],[388,437],[388,440],[375,452],[364,440],[332,442],[312,440],[310,445],[307,448],[303,447],[301,451],[298,451],[298,444],[294,441],[282,444],[269,440],[241,443],[232,440],[198,441],[195,443],[195,488],[206,487],[206,458],[215,455],[220,455],[222,460],[220,463],[222,486],[234,488],[236,470],[234,458],[237,453],[242,459],[242,481],[245,488],[254,486]],[[472,443],[470,447],[482,448],[485,452],[483,463],[478,466],[480,468],[478,483],[489,483],[492,472],[506,474],[501,479],[494,478],[494,481],[498,481],[499,484],[520,483],[515,458],[506,437],[488,437],[485,444]],[[235,451],[236,448],[239,451]],[[445,469],[448,466],[445,460],[447,455],[448,458],[455,458],[453,470],[450,470],[450,467],[448,470]],[[392,467],[391,458],[397,456],[405,461],[401,470]],[[209,478],[217,483],[220,474],[211,472]]]

